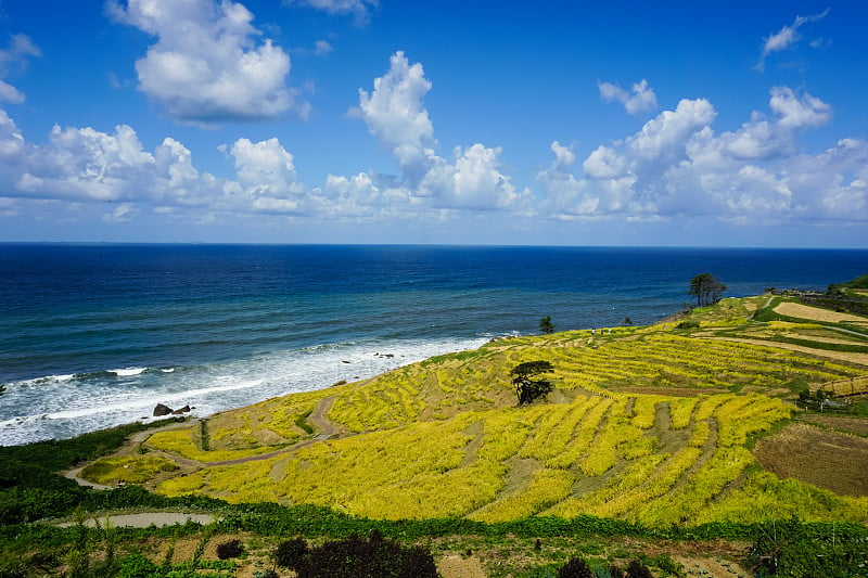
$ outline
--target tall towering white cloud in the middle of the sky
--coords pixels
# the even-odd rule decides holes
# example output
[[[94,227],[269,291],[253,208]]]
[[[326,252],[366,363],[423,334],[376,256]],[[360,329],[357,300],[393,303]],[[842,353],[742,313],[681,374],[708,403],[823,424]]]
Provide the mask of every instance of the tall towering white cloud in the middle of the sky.
[[[439,208],[495,209],[525,198],[528,193],[518,192],[501,172],[500,147],[457,146],[451,162],[435,153],[434,125],[424,106],[431,87],[422,64],[411,65],[399,51],[388,72],[374,79],[372,92],[359,89],[359,105],[352,111],[392,152],[403,185]]]

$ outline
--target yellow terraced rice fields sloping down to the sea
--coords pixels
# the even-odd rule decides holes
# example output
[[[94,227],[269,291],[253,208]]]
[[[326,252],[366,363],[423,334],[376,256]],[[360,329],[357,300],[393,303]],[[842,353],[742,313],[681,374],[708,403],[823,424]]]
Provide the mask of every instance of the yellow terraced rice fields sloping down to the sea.
[[[832,438],[845,465],[829,476],[868,468],[864,398],[824,400],[821,419],[796,406],[868,377],[868,318],[789,303],[724,299],[648,327],[498,339],[166,428],[84,475],[371,518],[868,523],[868,489],[817,477]],[[553,368],[553,389],[519,406],[510,372],[534,361]],[[808,434],[787,437],[793,426]],[[801,470],[787,458],[800,451]]]

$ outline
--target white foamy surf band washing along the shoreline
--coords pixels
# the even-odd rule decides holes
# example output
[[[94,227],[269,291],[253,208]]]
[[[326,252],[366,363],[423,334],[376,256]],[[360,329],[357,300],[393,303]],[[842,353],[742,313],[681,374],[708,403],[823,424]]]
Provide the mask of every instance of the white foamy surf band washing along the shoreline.
[[[478,347],[486,341],[330,344],[183,371],[113,371],[117,375],[124,372],[125,380],[92,373],[8,384],[0,404],[0,445],[66,438],[151,420],[156,403],[176,409],[189,404],[195,407],[192,414],[209,415],[271,397],[322,389],[339,381],[363,380],[436,355]],[[38,387],[30,387],[37,382]]]

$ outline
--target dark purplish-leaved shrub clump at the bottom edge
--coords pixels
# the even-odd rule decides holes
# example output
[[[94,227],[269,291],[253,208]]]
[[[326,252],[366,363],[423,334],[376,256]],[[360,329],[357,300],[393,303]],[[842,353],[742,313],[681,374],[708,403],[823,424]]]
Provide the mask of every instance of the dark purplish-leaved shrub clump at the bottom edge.
[[[363,540],[356,535],[310,548],[302,538],[278,545],[278,566],[298,578],[437,578],[431,551],[405,547],[374,530]]]

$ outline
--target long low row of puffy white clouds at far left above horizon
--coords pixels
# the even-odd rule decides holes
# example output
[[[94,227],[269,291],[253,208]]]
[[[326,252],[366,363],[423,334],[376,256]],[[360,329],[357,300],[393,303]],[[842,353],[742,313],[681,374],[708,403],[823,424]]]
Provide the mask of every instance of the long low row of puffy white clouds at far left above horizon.
[[[0,181],[8,205],[51,200],[115,203],[103,214],[124,222],[145,207],[161,215],[297,215],[318,201],[298,182],[293,156],[277,139],[238,139],[225,151],[234,178],[201,172],[182,143],[166,138],[145,151],[126,125],[113,132],[55,126],[46,144],[29,144],[0,110]]]

